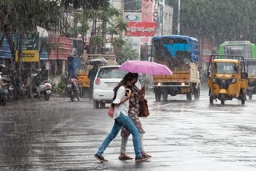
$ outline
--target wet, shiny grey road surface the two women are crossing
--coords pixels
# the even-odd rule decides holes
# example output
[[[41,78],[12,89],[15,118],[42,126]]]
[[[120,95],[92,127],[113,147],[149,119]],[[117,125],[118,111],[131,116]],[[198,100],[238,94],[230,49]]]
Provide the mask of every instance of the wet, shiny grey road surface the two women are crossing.
[[[107,108],[51,97],[0,106],[0,170],[256,170],[256,97],[244,106],[210,106],[206,91],[190,103],[185,96],[146,98],[150,116],[141,120],[150,161],[118,161],[119,135],[104,153],[109,162],[95,161],[113,125]],[[127,151],[134,157],[131,137]]]

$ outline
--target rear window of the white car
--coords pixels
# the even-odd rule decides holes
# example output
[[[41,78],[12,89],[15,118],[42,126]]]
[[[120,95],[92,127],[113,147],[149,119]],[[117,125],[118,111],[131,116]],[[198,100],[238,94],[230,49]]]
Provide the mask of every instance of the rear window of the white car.
[[[98,78],[123,78],[127,72],[118,68],[102,68],[98,71]]]

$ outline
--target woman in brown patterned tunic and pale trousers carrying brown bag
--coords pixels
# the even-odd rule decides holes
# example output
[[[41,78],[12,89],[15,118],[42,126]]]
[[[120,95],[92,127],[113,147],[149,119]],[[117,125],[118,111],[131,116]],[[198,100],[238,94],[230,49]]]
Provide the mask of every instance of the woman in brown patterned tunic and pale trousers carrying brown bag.
[[[138,82],[138,74],[134,73],[135,82],[131,85],[131,97],[130,97],[130,105],[128,110],[128,116],[134,122],[134,125],[137,127],[139,132],[140,138],[140,146],[141,146],[141,153],[142,157],[151,157],[147,154],[144,150],[143,145],[143,134],[145,133],[144,129],[142,129],[142,123],[139,120],[138,113],[139,113],[139,102],[143,100],[145,96],[145,86],[141,88],[140,82]],[[131,160],[132,157],[126,155],[126,145],[128,141],[128,137],[130,135],[130,131],[126,128],[122,128],[121,136],[122,136],[122,143],[120,149],[120,156],[118,157],[121,161]]]

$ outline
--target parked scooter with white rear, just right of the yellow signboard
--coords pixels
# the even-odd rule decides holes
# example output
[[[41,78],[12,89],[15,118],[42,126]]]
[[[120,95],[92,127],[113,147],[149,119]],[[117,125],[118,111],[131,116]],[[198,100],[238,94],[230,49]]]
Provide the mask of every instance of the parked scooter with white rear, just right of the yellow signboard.
[[[35,96],[39,98],[43,96],[46,101],[49,101],[52,93],[52,85],[48,80],[42,80],[41,69],[34,69],[34,73],[31,76],[34,78]]]

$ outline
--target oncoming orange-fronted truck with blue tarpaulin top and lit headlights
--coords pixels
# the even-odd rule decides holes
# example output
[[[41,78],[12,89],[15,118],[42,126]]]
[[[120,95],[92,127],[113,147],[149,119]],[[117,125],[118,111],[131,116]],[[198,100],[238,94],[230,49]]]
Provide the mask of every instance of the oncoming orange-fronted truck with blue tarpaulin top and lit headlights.
[[[172,75],[154,75],[156,101],[167,101],[168,95],[186,95],[187,101],[200,97],[198,40],[185,35],[165,35],[152,38],[152,61],[166,65]]]

